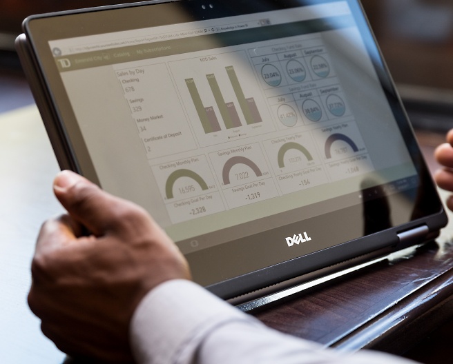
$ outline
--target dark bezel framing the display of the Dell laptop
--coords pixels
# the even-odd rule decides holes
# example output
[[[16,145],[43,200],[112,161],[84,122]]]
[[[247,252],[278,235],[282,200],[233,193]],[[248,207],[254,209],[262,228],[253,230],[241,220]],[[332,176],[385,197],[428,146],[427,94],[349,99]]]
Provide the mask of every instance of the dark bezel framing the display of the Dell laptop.
[[[59,161],[61,168],[68,168],[75,170],[89,179],[99,183],[97,174],[93,166],[93,162],[90,161],[88,151],[81,153],[81,150],[86,150],[86,146],[83,147],[83,138],[81,137],[80,131],[77,128],[77,121],[75,120],[74,113],[71,111],[70,102],[66,97],[64,86],[59,81],[59,72],[55,66],[55,61],[48,48],[48,41],[54,39],[65,39],[70,37],[80,37],[84,35],[91,35],[104,32],[117,32],[121,30],[131,30],[134,28],[148,28],[149,26],[160,26],[169,23],[178,23],[180,21],[187,21],[186,16],[184,19],[178,17],[169,16],[168,14],[175,14],[172,10],[175,8],[184,7],[184,10],[190,14],[191,19],[215,19],[217,17],[232,16],[236,14],[244,14],[247,12],[257,11],[268,11],[271,8],[282,8],[291,6],[300,6],[301,3],[314,4],[314,3],[328,3],[335,2],[336,0],[327,1],[249,1],[247,2],[247,8],[244,6],[234,6],[232,1],[213,1],[215,3],[215,12],[209,14],[206,9],[201,8],[200,1],[174,1],[168,3],[166,1],[148,1],[144,3],[128,4],[124,6],[111,6],[104,8],[95,8],[90,10],[77,10],[75,12],[63,12],[57,14],[45,14],[41,16],[30,17],[24,23],[24,29],[27,37],[30,41],[30,45],[35,55],[35,62],[37,64],[37,70],[43,80],[44,92],[47,94],[50,100],[50,105],[53,108],[52,113],[54,118],[52,121],[45,121],[46,127],[59,134],[59,142],[63,142],[63,147],[59,147],[56,152],[60,154]],[[421,151],[418,148],[416,139],[412,128],[410,127],[401,101],[398,98],[398,94],[394,88],[392,79],[389,77],[385,63],[380,56],[378,47],[374,41],[372,32],[369,30],[367,21],[363,17],[360,4],[357,1],[347,1],[349,6],[353,10],[354,19],[360,29],[363,41],[367,46],[367,51],[376,72],[378,73],[380,83],[383,86],[389,105],[394,112],[395,119],[405,139],[407,149],[410,151],[412,160],[418,172],[418,188],[411,191],[414,196],[414,217],[412,221],[398,221],[393,226],[383,227],[383,230],[368,230],[365,234],[362,234],[358,238],[357,233],[351,235],[350,231],[343,231],[340,227],[351,226],[354,223],[360,225],[363,228],[362,223],[352,221],[349,216],[357,216],[360,212],[365,210],[371,210],[374,205],[385,205],[397,202],[398,195],[379,196],[377,199],[369,199],[364,201],[363,205],[354,205],[344,208],[343,210],[337,210],[329,214],[325,214],[322,217],[312,218],[308,220],[298,221],[297,223],[291,223],[287,226],[283,226],[279,229],[274,229],[271,232],[262,232],[255,234],[254,236],[247,236],[246,238],[239,239],[237,241],[231,241],[215,247],[215,250],[220,250],[217,254],[218,259],[212,259],[212,251],[208,250],[201,251],[197,254],[188,254],[187,258],[191,263],[192,269],[195,272],[195,276],[212,275],[209,272],[207,266],[215,265],[212,269],[218,270],[218,267],[222,266],[222,259],[224,256],[238,256],[238,252],[242,250],[244,252],[244,240],[247,240],[247,255],[245,255],[244,265],[247,265],[247,261],[250,261],[253,257],[256,257],[258,252],[267,252],[262,256],[271,255],[271,250],[275,241],[283,240],[285,242],[285,236],[290,236],[294,232],[305,231],[307,225],[312,227],[318,226],[318,228],[312,228],[314,234],[319,234],[318,239],[324,242],[328,242],[327,245],[320,248],[316,252],[303,252],[299,250],[295,255],[287,256],[285,259],[278,263],[271,263],[269,267],[264,269],[256,269],[250,267],[247,272],[239,272],[237,275],[227,274],[222,278],[222,273],[218,273],[218,276],[214,279],[214,283],[207,281],[203,283],[207,285],[210,290],[222,296],[223,298],[230,298],[250,290],[255,290],[266,285],[271,285],[291,279],[294,276],[305,274],[313,270],[318,270],[327,265],[333,265],[340,261],[354,258],[360,254],[366,254],[378,250],[382,247],[396,245],[398,232],[402,229],[406,230],[412,227],[416,227],[421,223],[427,224],[430,231],[438,230],[445,223],[445,215],[441,201],[438,199],[434,184],[430,178],[430,174],[427,170]],[[219,6],[217,6],[219,4]],[[244,5],[241,3],[241,5]],[[146,17],[146,12],[139,9],[143,6],[152,6],[153,12],[158,12],[157,16],[154,17],[155,22],[150,24],[149,18]],[[218,12],[222,8],[221,12]],[[138,10],[138,11],[137,11]],[[209,8],[208,8],[209,11]],[[179,14],[179,12],[177,12]],[[143,18],[137,19],[137,17],[131,16],[131,14],[140,14]],[[125,21],[125,19],[133,19],[133,21]],[[97,24],[97,26],[93,26]],[[57,37],[55,37],[55,29],[58,29]],[[57,102],[55,95],[59,94],[59,102]],[[72,117],[71,117],[72,115]],[[68,125],[72,125],[72,128],[68,129]],[[73,146],[68,143],[68,134],[74,135],[79,134],[79,151],[75,153]],[[82,146],[82,148],[80,148]],[[76,155],[77,154],[77,155]],[[83,159],[83,167],[79,161]],[[407,194],[407,192],[405,192]],[[419,210],[423,210],[422,214],[415,214]],[[336,226],[338,229],[327,230],[323,228],[326,224]],[[336,231],[338,230],[338,231]],[[339,233],[340,232],[340,233]],[[360,235],[360,234],[359,234]],[[314,235],[315,236],[315,235]],[[321,237],[322,236],[322,237]],[[262,241],[264,237],[267,240],[267,245],[264,245]],[[334,245],[334,246],[331,246]],[[229,250],[228,254],[225,254],[224,249]],[[242,254],[243,255],[243,254]],[[219,260],[220,259],[220,260]],[[227,267],[222,269],[227,269]],[[208,271],[206,273],[206,270]]]

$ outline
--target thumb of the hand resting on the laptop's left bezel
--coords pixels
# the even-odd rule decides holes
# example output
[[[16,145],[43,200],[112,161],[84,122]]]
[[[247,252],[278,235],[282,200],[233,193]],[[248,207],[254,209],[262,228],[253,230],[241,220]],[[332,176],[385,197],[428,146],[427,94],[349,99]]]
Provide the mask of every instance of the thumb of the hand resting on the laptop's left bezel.
[[[54,192],[69,214],[95,236],[124,230],[124,225],[143,225],[144,216],[137,205],[101,190],[79,174],[63,171],[54,181]],[[131,227],[133,228],[133,227]]]

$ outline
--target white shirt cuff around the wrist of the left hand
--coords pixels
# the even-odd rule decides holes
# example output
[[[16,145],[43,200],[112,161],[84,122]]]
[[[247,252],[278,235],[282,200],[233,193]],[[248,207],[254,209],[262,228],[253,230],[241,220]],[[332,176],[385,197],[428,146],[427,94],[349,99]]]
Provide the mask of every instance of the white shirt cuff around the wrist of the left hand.
[[[238,320],[255,321],[191,281],[162,283],[146,294],[133,315],[130,337],[135,360],[191,363],[206,334]]]

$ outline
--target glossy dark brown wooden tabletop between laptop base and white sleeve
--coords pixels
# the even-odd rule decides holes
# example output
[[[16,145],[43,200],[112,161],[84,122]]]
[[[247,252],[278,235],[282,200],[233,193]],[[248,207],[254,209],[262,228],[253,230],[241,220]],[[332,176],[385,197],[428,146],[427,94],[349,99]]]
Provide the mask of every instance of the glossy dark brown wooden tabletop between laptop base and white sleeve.
[[[282,332],[344,350],[405,354],[453,318],[453,251],[436,244],[378,263],[256,314]]]

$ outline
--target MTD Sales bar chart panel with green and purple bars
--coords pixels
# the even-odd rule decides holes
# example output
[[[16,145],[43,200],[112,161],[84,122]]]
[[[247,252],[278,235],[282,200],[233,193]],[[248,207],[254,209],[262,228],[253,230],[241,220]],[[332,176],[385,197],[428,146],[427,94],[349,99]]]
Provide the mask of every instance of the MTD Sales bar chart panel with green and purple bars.
[[[275,130],[245,52],[229,52],[169,63],[177,90],[201,145]]]

